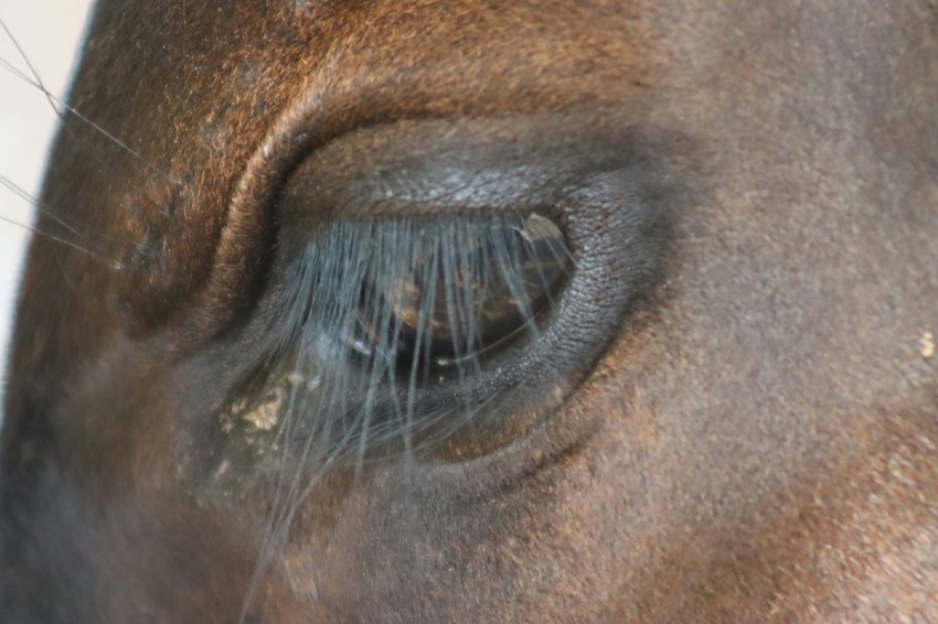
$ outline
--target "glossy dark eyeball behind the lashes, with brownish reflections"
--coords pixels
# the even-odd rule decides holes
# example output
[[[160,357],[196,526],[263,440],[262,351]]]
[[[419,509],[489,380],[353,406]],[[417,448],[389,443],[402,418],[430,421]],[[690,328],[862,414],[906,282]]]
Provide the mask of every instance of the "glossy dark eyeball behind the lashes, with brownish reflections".
[[[347,343],[398,376],[476,367],[513,338],[536,334],[569,268],[559,228],[536,214],[371,227]]]

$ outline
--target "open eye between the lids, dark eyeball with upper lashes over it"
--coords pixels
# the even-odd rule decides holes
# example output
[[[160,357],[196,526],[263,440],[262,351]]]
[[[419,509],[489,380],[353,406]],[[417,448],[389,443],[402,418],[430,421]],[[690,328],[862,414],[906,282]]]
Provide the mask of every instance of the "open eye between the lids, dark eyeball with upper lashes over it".
[[[309,348],[372,376],[462,375],[534,338],[573,262],[539,214],[337,220],[298,262],[290,314]]]

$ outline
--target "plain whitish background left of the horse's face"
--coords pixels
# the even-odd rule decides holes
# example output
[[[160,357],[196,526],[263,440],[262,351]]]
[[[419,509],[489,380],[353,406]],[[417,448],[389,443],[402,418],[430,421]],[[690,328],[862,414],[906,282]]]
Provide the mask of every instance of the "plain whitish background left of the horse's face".
[[[0,0],[0,20],[55,95],[65,90],[89,4],[89,0]],[[24,226],[33,223],[30,203],[3,182],[35,196],[56,121],[45,96],[17,78],[7,64],[29,71],[10,37],[0,30],[0,370],[4,381],[0,399],[20,263],[29,240]]]

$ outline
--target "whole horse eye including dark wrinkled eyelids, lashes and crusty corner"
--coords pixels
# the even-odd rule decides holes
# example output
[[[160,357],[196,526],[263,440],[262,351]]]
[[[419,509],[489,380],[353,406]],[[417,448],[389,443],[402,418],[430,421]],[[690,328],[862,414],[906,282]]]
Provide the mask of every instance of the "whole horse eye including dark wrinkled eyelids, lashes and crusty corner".
[[[663,272],[680,193],[643,144],[628,127],[413,121],[311,154],[278,193],[227,430],[319,465],[451,449],[467,428],[470,454],[510,442]]]

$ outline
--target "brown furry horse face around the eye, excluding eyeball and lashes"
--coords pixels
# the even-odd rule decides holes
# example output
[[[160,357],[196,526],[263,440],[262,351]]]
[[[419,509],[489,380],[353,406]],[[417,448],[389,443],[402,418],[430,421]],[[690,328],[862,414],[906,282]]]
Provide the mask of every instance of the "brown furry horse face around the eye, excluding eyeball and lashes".
[[[71,104],[109,137],[66,118],[40,229],[92,252],[23,281],[4,623],[938,621],[935,2],[102,0]],[[554,201],[609,252],[550,381],[271,539],[216,412],[281,256]]]

